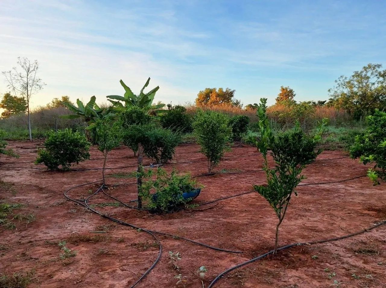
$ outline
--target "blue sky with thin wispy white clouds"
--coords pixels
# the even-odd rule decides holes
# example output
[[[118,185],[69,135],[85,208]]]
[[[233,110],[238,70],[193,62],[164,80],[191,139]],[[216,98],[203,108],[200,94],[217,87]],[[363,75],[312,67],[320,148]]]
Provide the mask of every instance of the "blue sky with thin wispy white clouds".
[[[1,0],[0,71],[37,59],[47,83],[32,105],[138,92],[194,102],[229,87],[244,105],[290,86],[296,100],[326,100],[340,75],[386,65],[384,1]],[[7,91],[3,78],[0,93]]]

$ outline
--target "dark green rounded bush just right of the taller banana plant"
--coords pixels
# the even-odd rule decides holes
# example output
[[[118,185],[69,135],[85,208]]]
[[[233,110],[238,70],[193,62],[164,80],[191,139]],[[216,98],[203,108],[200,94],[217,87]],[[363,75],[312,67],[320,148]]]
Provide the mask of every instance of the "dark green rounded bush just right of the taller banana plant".
[[[170,129],[173,132],[189,133],[192,131],[192,119],[186,114],[186,108],[176,105],[168,110],[161,119],[163,128]]]

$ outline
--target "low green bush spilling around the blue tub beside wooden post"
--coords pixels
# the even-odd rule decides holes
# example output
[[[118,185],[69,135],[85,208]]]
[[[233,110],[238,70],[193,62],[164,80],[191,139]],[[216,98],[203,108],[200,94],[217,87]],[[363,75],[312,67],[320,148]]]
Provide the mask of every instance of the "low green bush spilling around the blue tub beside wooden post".
[[[184,192],[201,188],[201,185],[191,179],[190,174],[178,175],[176,170],[168,174],[164,169],[158,168],[156,173],[152,170],[142,173],[144,181],[139,187],[139,194],[152,212],[173,212],[190,200],[182,197]]]

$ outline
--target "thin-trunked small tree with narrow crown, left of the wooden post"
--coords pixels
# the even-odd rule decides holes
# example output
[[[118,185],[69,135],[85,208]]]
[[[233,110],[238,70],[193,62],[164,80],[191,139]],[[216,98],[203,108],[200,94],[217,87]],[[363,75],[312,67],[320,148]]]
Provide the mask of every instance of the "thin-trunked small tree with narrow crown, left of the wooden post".
[[[95,122],[95,142],[98,145],[98,150],[103,153],[104,161],[102,168],[103,186],[105,186],[105,167],[107,154],[112,149],[119,146],[122,133],[119,122],[113,122],[111,118],[98,119]]]

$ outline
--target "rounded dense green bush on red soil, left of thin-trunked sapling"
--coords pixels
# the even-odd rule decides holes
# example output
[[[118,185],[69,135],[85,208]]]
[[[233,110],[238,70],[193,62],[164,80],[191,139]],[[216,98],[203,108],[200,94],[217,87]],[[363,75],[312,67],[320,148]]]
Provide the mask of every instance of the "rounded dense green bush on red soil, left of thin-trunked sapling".
[[[44,146],[45,149],[38,151],[35,163],[44,163],[51,170],[57,170],[59,166],[68,170],[72,163],[78,164],[90,158],[90,143],[85,136],[71,129],[50,131]]]

